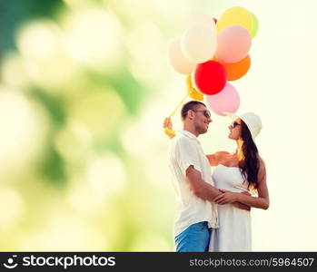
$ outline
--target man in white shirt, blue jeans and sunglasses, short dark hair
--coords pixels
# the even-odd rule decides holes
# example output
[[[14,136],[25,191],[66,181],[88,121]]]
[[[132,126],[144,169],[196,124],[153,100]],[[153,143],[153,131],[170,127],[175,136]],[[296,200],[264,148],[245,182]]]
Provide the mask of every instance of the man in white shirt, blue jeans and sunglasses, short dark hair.
[[[183,131],[173,137],[169,158],[177,205],[175,246],[178,252],[203,252],[208,251],[211,228],[218,227],[213,199],[222,193],[213,187],[211,167],[197,139],[208,131],[212,119],[203,102],[197,101],[185,103],[181,115]]]

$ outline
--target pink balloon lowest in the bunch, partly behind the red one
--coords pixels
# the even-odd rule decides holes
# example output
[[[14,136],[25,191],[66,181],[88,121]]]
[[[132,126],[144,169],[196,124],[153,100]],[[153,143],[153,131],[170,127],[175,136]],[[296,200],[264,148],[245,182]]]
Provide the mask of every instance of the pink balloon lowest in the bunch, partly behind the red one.
[[[226,83],[222,92],[205,95],[206,101],[212,111],[218,115],[226,116],[225,112],[237,112],[240,106],[240,96],[232,84]]]

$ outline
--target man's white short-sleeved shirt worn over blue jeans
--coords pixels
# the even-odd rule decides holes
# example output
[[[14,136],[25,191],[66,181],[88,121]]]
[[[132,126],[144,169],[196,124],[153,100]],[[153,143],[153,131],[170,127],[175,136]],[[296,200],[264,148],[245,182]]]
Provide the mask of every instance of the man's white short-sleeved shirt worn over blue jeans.
[[[176,195],[174,236],[189,226],[207,221],[209,228],[218,228],[216,204],[198,198],[189,188],[186,170],[193,165],[199,170],[205,182],[213,185],[211,167],[200,142],[189,131],[178,131],[171,141],[169,166],[172,173],[173,189]]]

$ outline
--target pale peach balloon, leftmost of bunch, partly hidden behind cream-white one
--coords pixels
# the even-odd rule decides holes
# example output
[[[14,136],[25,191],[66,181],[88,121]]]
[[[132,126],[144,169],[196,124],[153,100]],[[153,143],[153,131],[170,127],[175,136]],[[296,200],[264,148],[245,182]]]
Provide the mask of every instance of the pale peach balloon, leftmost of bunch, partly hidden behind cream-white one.
[[[190,74],[193,71],[195,63],[191,63],[184,55],[181,46],[181,39],[173,40],[168,52],[168,58],[173,69],[178,73]]]

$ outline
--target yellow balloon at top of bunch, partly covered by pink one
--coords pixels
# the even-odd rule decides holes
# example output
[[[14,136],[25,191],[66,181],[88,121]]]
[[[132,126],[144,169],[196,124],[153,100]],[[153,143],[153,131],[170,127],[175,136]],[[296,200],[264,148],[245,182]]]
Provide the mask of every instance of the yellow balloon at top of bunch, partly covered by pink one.
[[[243,26],[251,34],[253,31],[253,16],[247,9],[241,6],[233,6],[227,9],[219,18],[216,24],[217,33],[219,34],[223,30],[223,28],[233,24]]]

